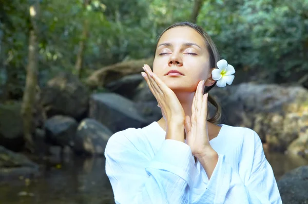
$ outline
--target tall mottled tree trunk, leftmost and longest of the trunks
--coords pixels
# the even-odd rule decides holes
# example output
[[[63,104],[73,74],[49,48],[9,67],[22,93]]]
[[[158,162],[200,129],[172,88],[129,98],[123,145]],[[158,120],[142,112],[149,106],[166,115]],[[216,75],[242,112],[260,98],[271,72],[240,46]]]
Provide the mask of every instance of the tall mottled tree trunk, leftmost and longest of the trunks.
[[[35,102],[35,92],[37,86],[37,26],[36,17],[38,12],[38,3],[30,6],[30,16],[32,28],[29,34],[29,47],[28,47],[28,66],[26,76],[26,86],[23,96],[22,117],[24,127],[25,147],[33,152],[33,139],[32,139],[32,124],[33,124],[33,104]]]

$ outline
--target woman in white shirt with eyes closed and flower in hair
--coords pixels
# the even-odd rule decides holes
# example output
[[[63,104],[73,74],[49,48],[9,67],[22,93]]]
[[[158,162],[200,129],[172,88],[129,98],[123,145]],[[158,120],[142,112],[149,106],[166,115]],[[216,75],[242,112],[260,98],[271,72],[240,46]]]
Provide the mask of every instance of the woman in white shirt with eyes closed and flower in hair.
[[[116,203],[282,203],[257,133],[215,125],[220,107],[207,92],[232,84],[235,72],[218,60],[195,24],[160,35],[153,72],[145,65],[142,75],[163,117],[115,133],[105,149]],[[208,120],[207,101],[217,108]]]

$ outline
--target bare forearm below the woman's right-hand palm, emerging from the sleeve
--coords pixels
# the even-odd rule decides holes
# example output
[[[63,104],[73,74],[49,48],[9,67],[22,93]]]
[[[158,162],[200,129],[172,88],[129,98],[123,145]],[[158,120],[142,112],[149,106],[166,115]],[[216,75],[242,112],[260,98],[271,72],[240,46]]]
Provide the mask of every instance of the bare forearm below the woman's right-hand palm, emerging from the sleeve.
[[[202,165],[203,169],[205,170],[208,179],[210,179],[217,165],[218,154],[217,152],[215,152],[214,149],[210,149],[205,152],[206,153],[204,153],[202,156],[198,156],[197,158],[200,161],[200,164]]]

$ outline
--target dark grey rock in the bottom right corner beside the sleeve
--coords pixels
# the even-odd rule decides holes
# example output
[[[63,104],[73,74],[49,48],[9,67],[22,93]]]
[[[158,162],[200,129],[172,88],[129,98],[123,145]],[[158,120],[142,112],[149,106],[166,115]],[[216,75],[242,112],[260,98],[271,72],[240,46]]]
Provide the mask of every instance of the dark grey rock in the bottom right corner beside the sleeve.
[[[308,166],[298,167],[277,181],[283,203],[308,203]]]

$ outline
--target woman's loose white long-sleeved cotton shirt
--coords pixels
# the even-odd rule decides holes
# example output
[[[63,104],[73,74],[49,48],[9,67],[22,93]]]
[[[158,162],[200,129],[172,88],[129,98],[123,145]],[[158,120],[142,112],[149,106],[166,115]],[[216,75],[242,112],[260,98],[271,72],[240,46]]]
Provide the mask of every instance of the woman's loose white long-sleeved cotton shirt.
[[[210,140],[219,159],[208,180],[184,142],[165,139],[157,122],[113,134],[106,174],[121,204],[282,203],[261,140],[248,128],[222,126]]]

